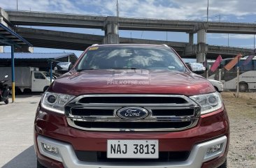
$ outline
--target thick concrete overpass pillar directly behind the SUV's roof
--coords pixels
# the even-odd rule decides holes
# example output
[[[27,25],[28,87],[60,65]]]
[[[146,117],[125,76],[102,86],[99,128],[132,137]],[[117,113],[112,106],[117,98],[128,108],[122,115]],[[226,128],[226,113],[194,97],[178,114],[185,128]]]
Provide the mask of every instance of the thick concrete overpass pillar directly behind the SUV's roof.
[[[107,17],[105,24],[105,37],[103,40],[104,44],[118,44],[119,34],[118,34],[118,17]]]

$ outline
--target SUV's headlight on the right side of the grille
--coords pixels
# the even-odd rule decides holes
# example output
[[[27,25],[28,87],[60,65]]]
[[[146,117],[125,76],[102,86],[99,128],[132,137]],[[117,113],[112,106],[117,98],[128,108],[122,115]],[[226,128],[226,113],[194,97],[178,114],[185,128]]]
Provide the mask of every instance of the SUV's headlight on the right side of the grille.
[[[222,98],[218,92],[191,96],[190,98],[201,105],[201,114],[214,112],[222,107]]]

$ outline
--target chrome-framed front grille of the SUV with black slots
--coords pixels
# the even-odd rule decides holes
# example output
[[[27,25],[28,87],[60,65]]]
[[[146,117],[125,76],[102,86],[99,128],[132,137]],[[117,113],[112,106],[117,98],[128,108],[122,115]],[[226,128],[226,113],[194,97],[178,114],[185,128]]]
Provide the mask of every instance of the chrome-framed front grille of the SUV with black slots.
[[[120,118],[123,107],[143,108],[145,118]],[[200,107],[179,95],[87,95],[65,107],[73,128],[92,131],[178,131],[197,125]]]

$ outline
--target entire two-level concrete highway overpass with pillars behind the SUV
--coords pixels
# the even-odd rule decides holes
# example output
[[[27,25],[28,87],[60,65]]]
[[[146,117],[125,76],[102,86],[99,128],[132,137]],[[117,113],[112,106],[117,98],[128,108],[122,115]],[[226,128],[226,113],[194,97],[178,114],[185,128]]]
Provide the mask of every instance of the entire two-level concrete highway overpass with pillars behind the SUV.
[[[197,56],[198,62],[208,57],[222,54],[231,57],[241,52],[248,54],[253,49],[211,46],[206,44],[206,33],[241,33],[255,34],[256,24],[231,22],[198,22],[186,20],[159,20],[146,18],[128,18],[97,15],[78,15],[65,13],[43,13],[30,11],[3,10],[0,8],[0,19],[11,27],[26,26],[62,26],[102,29],[105,36],[47,31],[19,28],[17,32],[33,43],[35,47],[52,47],[83,50],[94,43],[167,43],[181,56]],[[120,38],[118,30],[140,31],[177,31],[189,34],[189,43],[174,43],[158,40]],[[197,44],[194,44],[194,33],[197,33]]]

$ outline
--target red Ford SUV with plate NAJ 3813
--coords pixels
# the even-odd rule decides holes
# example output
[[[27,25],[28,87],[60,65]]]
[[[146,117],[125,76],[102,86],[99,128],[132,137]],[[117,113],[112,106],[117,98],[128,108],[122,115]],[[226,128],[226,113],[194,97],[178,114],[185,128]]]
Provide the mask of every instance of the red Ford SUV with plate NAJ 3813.
[[[38,105],[37,167],[227,167],[225,106],[192,71],[166,45],[88,47]]]

